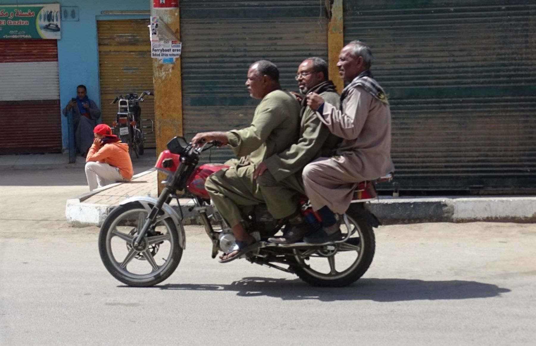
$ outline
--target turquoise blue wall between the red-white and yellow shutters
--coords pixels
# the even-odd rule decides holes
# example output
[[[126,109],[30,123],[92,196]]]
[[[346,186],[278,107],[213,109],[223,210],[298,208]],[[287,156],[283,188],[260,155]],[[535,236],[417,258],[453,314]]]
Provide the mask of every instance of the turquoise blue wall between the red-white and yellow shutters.
[[[57,1],[19,0],[19,5],[56,3]],[[0,0],[2,5],[17,4],[15,0]],[[84,84],[87,95],[100,107],[99,50],[97,20],[136,19],[147,16],[102,16],[101,11],[149,11],[151,0],[91,0],[59,1],[61,6],[78,6],[79,21],[62,21],[62,38],[58,40],[59,95],[62,108],[76,96],[76,86]],[[147,44],[149,32],[147,29]],[[59,115],[58,115],[59,116]],[[68,148],[67,121],[62,116],[63,148]]]

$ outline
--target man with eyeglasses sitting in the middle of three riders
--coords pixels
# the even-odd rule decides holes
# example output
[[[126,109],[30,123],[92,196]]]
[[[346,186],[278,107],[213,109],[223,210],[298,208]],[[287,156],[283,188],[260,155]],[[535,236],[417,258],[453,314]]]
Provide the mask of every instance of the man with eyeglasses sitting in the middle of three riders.
[[[311,57],[304,60],[295,78],[302,94],[315,92],[338,106],[339,94],[333,82],[328,80],[327,63],[323,59]],[[301,178],[303,167],[317,157],[329,154],[339,141],[307,106],[304,95],[299,96],[300,138],[285,151],[260,163],[254,175],[270,214],[289,223],[282,237],[269,239],[281,244],[295,243],[310,230],[297,203],[298,195],[305,194]]]

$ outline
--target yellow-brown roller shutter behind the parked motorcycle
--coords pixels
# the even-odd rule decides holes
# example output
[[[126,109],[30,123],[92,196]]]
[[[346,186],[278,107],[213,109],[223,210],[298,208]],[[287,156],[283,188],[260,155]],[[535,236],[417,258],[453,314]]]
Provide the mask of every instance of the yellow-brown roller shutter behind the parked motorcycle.
[[[148,19],[100,20],[99,73],[102,122],[111,126],[117,114],[115,96],[153,91],[153,65]],[[140,103],[142,119],[154,121],[154,100],[145,97]],[[150,126],[150,122],[145,125]],[[150,130],[148,130],[150,132]],[[154,133],[146,132],[146,148],[155,147]]]

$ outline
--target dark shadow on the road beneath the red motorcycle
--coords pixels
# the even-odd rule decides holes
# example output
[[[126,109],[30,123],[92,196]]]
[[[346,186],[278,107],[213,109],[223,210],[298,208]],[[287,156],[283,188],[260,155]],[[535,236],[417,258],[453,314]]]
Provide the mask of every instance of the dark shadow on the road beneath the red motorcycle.
[[[161,290],[235,291],[237,296],[267,296],[283,300],[315,299],[322,302],[336,300],[374,300],[400,302],[404,300],[490,298],[510,292],[494,284],[476,281],[423,281],[410,279],[361,279],[350,287],[311,287],[299,279],[266,279],[244,277],[229,285],[166,284]]]

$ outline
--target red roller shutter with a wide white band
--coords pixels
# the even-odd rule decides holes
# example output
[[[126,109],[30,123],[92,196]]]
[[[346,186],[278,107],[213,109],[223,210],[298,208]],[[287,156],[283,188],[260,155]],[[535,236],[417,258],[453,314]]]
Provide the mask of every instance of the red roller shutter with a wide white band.
[[[61,152],[56,40],[0,40],[0,153]]]

